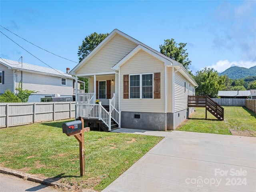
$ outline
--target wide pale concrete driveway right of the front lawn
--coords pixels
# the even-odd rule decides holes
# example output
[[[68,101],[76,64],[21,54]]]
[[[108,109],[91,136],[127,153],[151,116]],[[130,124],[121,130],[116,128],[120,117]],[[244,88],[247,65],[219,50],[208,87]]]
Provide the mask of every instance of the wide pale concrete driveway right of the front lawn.
[[[103,192],[255,192],[256,138],[170,132]]]

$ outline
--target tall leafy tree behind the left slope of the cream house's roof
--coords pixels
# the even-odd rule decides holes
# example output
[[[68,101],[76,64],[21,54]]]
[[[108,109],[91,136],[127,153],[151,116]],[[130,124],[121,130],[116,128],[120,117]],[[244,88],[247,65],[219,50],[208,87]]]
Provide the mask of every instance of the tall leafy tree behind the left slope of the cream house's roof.
[[[105,38],[108,36],[108,33],[92,33],[84,38],[82,41],[82,45],[78,46],[78,57],[79,62],[81,62],[98,44],[100,44]],[[85,92],[89,92],[88,90],[88,79],[83,77],[78,77],[79,80],[85,82]],[[80,89],[84,89],[84,84],[80,84]]]

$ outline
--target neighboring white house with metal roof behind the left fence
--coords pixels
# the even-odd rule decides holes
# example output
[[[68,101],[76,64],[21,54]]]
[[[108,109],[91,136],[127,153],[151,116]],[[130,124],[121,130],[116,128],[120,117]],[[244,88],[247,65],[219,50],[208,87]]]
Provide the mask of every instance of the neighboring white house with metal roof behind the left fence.
[[[72,101],[75,96],[75,78],[70,74],[0,58],[0,94],[7,89],[17,94],[16,88],[19,84],[21,86],[21,82],[22,89],[37,91],[29,97],[28,102]],[[84,93],[84,90],[78,91]]]

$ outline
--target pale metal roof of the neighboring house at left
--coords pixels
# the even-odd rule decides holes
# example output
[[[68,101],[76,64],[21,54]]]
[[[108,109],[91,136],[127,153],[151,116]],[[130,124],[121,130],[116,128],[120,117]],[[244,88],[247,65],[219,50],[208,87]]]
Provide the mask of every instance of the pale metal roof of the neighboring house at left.
[[[28,63],[22,63],[17,62],[17,61],[12,61],[8,59],[2,59],[0,58],[0,63],[4,64],[5,66],[8,66],[11,69],[16,69],[16,70],[24,70],[24,71],[30,71],[30,72],[39,72],[39,73],[44,73],[44,74],[49,74],[49,75],[54,75],[54,76],[64,76],[66,78],[72,78],[74,77],[72,75],[66,74],[62,72],[61,70],[57,69],[52,69],[48,67],[42,67],[38,65],[32,65]]]

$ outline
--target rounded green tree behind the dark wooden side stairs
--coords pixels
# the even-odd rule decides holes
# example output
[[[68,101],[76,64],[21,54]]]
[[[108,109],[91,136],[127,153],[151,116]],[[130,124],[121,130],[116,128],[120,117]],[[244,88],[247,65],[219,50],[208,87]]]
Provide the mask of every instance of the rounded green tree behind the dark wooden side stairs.
[[[197,95],[208,95],[212,98],[218,95],[219,90],[226,88],[225,76],[219,76],[213,68],[204,68],[196,72],[195,80],[198,84],[196,88]]]

